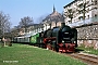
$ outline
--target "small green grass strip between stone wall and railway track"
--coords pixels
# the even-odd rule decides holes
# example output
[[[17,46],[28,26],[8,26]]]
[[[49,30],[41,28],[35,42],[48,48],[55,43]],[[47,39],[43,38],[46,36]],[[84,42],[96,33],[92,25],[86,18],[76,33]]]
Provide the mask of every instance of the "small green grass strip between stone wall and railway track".
[[[93,47],[90,47],[90,48],[78,47],[77,49],[84,50],[83,52],[85,52],[85,53],[98,55],[98,50],[94,50]]]

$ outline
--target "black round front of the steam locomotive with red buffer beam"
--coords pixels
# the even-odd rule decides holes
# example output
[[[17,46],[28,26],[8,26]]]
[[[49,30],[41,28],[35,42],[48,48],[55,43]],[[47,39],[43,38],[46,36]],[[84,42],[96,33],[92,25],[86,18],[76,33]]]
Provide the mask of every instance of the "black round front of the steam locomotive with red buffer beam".
[[[60,30],[59,52],[74,52],[75,44],[72,42],[74,35],[70,26],[63,26]]]

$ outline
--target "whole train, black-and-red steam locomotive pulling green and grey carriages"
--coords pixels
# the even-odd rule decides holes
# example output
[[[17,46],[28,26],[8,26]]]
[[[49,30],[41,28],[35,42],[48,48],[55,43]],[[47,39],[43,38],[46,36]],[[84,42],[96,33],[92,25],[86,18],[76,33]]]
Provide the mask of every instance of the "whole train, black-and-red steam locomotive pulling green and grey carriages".
[[[77,30],[61,23],[61,27],[30,35],[15,37],[14,42],[35,44],[57,52],[74,52],[77,47]]]

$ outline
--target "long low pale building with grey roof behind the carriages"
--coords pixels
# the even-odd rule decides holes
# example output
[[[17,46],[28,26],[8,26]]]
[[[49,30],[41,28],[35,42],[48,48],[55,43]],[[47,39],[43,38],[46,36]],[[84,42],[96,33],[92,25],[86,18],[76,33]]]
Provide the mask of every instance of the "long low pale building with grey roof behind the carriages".
[[[22,27],[19,30],[19,36],[33,36],[36,35],[37,32],[41,32],[44,30],[44,25],[42,24],[32,24],[27,26],[27,29],[25,32],[25,28]]]

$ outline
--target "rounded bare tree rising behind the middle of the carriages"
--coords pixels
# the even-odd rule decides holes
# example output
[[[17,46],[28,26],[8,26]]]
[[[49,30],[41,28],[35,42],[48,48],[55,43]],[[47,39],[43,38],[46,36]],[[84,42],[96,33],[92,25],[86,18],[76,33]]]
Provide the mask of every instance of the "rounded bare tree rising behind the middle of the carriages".
[[[27,32],[27,26],[34,24],[33,17],[25,16],[21,18],[20,26],[25,28],[25,32]]]

